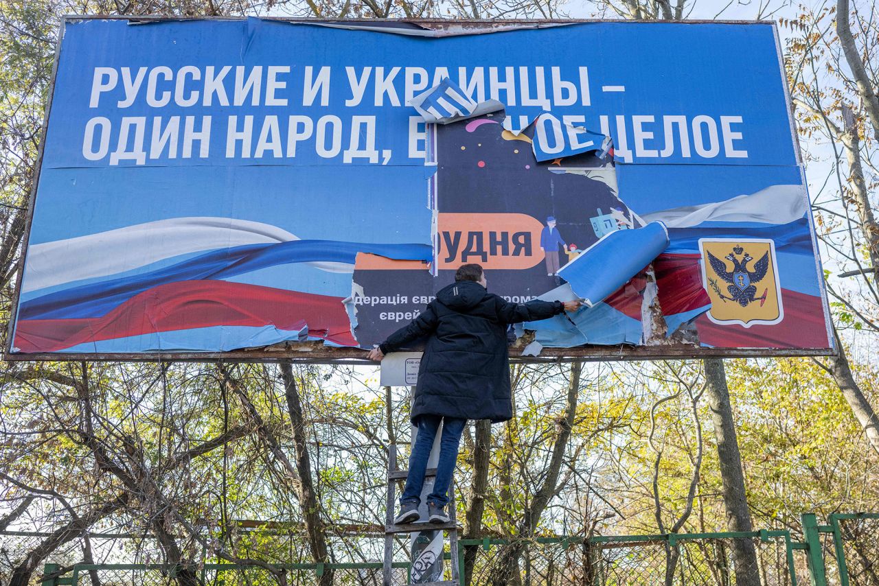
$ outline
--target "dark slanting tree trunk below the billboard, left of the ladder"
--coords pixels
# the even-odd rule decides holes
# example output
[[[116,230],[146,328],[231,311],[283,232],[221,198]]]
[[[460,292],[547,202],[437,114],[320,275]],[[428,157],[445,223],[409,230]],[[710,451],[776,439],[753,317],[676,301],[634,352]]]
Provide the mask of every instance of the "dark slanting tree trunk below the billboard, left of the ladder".
[[[302,403],[299,388],[293,375],[293,366],[289,362],[280,363],[281,376],[284,379],[284,394],[287,396],[287,410],[290,423],[293,424],[293,443],[296,449],[296,470],[299,473],[301,486],[302,518],[305,531],[309,536],[311,555],[317,563],[329,563],[327,553],[326,526],[321,518],[321,507],[317,502],[315,484],[311,476],[311,459],[305,437],[305,417],[302,414]],[[325,569],[318,582],[320,586],[332,586],[333,572]]]

